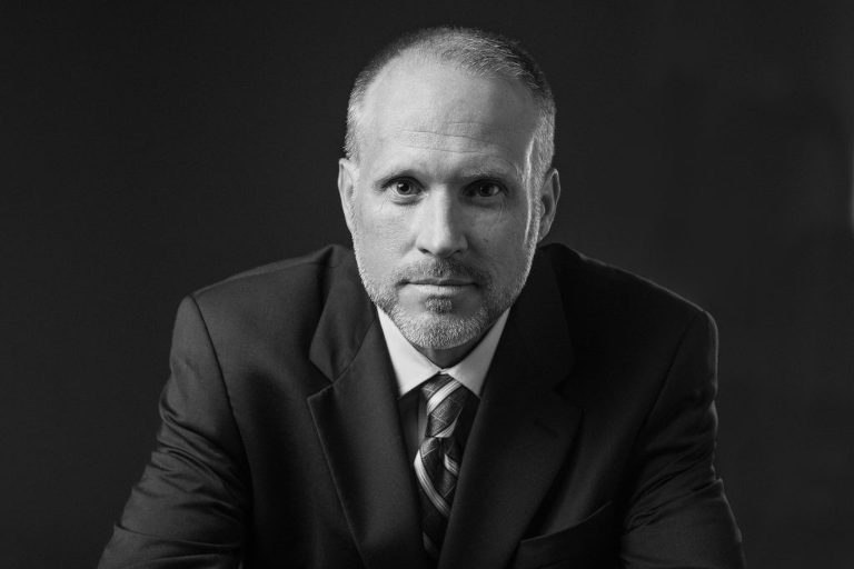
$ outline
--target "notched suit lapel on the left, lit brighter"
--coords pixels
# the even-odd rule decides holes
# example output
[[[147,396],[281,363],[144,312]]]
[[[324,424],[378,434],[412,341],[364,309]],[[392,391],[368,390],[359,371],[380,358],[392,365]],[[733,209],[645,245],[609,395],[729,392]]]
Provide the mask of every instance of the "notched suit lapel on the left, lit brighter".
[[[310,350],[331,383],[308,405],[365,566],[417,568],[426,559],[413,559],[423,550],[417,490],[394,376],[375,309],[348,264],[332,280]]]

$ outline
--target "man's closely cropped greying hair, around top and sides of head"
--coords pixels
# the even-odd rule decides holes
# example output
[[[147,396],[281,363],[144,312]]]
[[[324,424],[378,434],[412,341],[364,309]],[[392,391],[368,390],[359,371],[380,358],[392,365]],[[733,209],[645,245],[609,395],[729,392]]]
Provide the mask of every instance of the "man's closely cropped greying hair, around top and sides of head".
[[[504,79],[520,87],[529,97],[536,116],[532,171],[542,181],[554,156],[555,103],[545,76],[537,63],[515,41],[498,34],[467,28],[431,28],[405,36],[380,51],[356,78],[347,108],[345,152],[359,162],[363,130],[375,84],[394,68],[453,66],[480,78]],[[514,89],[517,90],[517,89]]]

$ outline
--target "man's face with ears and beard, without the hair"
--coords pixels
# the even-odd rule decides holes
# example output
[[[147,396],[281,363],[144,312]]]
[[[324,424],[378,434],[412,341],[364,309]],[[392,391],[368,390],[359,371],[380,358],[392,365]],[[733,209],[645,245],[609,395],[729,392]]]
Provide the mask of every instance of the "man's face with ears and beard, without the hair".
[[[416,349],[459,361],[510,307],[560,193],[532,179],[537,111],[515,80],[404,56],[369,87],[338,189],[365,288]]]

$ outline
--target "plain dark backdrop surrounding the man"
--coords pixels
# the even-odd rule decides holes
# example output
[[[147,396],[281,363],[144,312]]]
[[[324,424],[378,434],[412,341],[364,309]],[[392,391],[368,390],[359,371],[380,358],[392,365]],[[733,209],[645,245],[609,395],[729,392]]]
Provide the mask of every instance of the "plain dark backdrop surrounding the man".
[[[717,318],[751,567],[854,567],[851,3],[246,4],[0,4],[0,567],[95,566],[180,298],[348,241],[350,82],[437,23],[519,38],[549,76],[550,239]]]

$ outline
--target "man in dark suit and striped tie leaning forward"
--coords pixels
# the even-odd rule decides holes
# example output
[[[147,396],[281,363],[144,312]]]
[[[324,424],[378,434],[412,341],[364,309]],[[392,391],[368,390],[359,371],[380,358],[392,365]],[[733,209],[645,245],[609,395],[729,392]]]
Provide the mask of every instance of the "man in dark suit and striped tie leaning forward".
[[[181,305],[101,567],[742,567],[715,329],[560,246],[554,101],[490,33],[356,81],[332,247]]]

